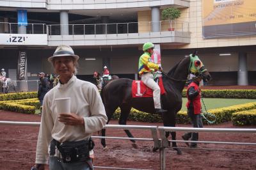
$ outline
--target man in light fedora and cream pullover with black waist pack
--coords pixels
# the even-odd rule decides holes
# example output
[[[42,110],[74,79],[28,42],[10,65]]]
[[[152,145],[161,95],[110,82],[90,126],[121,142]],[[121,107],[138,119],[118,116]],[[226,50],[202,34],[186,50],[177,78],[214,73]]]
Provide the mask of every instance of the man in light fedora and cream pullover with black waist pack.
[[[108,120],[98,89],[81,81],[77,73],[79,56],[68,45],[60,45],[48,58],[59,83],[46,93],[36,146],[35,166],[50,170],[93,169],[93,132],[101,130]],[[56,98],[70,98],[70,113],[58,112]],[[48,162],[49,155],[49,162]]]

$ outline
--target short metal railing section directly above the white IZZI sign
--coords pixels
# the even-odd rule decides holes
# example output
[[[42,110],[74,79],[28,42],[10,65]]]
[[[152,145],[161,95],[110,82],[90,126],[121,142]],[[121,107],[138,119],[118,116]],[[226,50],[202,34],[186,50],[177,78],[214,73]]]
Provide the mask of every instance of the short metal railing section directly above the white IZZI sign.
[[[0,22],[0,34],[17,34],[19,29],[18,23]],[[30,24],[26,26],[26,34],[47,34],[46,24]]]

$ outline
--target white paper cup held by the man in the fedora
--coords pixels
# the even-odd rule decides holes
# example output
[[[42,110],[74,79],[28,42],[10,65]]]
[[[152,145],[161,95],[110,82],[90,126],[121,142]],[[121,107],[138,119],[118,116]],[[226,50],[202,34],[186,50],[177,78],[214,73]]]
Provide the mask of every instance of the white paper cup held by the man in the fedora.
[[[70,113],[70,97],[55,98],[54,100],[56,103],[58,114]]]

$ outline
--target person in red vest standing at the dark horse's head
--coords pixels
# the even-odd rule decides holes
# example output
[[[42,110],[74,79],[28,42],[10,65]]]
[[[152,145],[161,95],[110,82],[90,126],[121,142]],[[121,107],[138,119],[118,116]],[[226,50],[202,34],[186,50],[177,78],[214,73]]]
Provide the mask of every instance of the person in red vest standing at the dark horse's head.
[[[188,116],[191,119],[192,127],[203,128],[203,121],[201,116],[201,89],[200,82],[202,81],[202,73],[196,73],[193,81],[189,84],[187,89],[188,102],[186,107],[188,108]],[[182,135],[184,141],[198,141],[198,132],[188,132]],[[186,143],[190,148],[196,148],[197,143]]]

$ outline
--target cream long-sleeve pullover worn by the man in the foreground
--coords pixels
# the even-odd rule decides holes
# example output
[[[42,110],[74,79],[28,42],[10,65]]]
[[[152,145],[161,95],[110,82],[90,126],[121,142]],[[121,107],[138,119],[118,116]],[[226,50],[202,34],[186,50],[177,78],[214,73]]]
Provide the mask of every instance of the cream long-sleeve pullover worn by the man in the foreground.
[[[71,98],[71,112],[83,117],[84,127],[64,125],[58,121],[55,98]],[[81,81],[75,75],[67,84],[58,83],[44,97],[41,125],[36,146],[36,164],[47,164],[52,138],[60,143],[88,139],[101,130],[108,118],[96,86]]]

